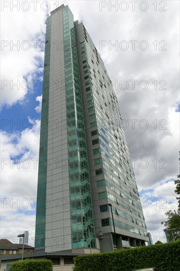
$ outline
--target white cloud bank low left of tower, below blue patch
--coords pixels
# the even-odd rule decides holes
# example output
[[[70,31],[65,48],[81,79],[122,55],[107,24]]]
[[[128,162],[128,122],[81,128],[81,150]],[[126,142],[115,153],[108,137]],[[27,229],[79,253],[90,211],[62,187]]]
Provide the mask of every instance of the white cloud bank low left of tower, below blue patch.
[[[19,133],[0,133],[0,236],[14,241],[26,230],[34,237],[40,121],[35,124]]]

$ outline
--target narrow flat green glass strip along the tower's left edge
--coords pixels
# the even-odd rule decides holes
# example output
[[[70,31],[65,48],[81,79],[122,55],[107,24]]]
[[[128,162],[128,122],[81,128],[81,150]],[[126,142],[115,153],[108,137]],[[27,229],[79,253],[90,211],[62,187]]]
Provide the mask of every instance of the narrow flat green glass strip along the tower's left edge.
[[[47,18],[46,24],[39,168],[37,184],[37,206],[36,206],[36,224],[35,224],[35,248],[45,246],[50,43],[51,43],[51,16]]]

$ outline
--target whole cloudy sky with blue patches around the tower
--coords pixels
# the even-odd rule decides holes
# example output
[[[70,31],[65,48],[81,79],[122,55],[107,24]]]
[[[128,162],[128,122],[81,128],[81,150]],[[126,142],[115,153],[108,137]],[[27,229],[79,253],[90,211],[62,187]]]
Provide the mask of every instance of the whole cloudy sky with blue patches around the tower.
[[[1,1],[1,226],[33,245],[45,22],[68,4],[85,24],[116,91],[153,241],[177,209],[179,1]]]

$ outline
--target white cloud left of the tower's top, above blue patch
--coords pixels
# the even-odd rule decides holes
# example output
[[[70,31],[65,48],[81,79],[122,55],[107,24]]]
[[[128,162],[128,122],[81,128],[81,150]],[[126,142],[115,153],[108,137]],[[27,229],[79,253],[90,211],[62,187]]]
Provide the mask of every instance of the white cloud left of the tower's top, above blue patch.
[[[9,9],[1,12],[1,108],[25,102],[27,93],[34,91],[33,79],[44,61],[47,13],[39,8],[36,12]]]

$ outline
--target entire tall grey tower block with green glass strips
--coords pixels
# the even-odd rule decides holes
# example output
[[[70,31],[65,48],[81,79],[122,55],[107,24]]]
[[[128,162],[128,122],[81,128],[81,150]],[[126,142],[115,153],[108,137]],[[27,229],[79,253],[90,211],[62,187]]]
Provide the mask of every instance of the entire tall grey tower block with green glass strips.
[[[116,239],[119,248],[144,245],[147,229],[116,94],[85,26],[64,5],[47,20],[43,121],[49,125],[41,125],[36,249],[104,252]]]

